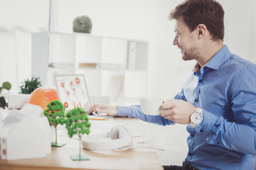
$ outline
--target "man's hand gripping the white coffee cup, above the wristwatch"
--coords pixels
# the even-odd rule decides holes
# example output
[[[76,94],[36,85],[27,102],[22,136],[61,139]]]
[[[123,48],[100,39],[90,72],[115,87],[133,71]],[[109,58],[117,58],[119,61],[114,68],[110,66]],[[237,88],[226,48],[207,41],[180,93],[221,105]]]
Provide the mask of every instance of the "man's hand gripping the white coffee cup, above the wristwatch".
[[[189,124],[191,123],[191,114],[196,111],[196,107],[186,101],[171,99],[164,101],[161,116],[175,123]]]

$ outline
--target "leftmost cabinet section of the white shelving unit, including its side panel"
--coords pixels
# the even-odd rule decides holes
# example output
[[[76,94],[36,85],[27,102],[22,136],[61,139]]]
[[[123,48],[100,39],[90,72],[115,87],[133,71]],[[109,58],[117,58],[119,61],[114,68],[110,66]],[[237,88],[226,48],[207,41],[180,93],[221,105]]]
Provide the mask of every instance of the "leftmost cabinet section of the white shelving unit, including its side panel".
[[[60,33],[32,35],[32,75],[43,85],[54,85],[53,74],[75,73],[75,36]]]

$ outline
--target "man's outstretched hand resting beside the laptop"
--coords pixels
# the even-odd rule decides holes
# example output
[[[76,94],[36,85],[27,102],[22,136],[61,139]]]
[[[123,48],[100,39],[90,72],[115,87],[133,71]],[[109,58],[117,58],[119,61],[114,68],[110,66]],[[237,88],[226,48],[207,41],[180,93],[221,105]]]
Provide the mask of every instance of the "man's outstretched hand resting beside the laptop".
[[[90,114],[94,111],[97,113],[107,113],[107,115],[117,115],[117,106],[109,106],[109,105],[105,105],[105,104],[95,104],[89,109],[88,114]]]

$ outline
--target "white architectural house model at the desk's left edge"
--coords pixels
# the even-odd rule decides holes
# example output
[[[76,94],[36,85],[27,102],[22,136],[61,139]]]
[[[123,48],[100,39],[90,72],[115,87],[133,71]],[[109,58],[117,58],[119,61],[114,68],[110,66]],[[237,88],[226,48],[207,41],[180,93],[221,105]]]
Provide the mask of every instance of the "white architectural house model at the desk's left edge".
[[[50,154],[50,125],[40,106],[26,104],[0,123],[1,159],[28,159]]]

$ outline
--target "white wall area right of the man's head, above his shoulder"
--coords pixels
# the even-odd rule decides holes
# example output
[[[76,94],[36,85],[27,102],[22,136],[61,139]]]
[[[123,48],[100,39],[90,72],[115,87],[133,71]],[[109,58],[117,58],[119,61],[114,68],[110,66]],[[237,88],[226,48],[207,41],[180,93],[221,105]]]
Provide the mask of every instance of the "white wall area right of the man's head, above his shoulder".
[[[256,62],[256,1],[221,0],[225,10],[225,43],[230,51]]]

